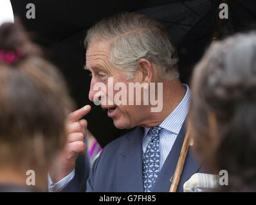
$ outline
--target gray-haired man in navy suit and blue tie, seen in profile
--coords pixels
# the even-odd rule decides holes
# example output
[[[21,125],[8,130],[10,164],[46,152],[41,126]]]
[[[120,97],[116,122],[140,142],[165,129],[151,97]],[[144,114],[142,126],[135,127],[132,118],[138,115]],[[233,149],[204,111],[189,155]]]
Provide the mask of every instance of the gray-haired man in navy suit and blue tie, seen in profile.
[[[107,109],[114,126],[135,127],[104,148],[91,168],[87,191],[169,191],[186,133],[190,90],[178,79],[178,56],[167,31],[145,15],[120,13],[96,23],[87,32],[85,43],[86,69],[92,73],[89,99]],[[136,90],[130,85],[143,86]],[[128,90],[120,94],[120,88]],[[144,97],[144,93],[149,95]],[[136,94],[141,94],[139,100]],[[120,96],[129,102],[117,104]],[[160,110],[152,111],[157,105],[147,99],[150,96],[158,96]],[[64,191],[79,191],[76,176],[68,173],[74,168],[72,159],[67,171],[53,172],[66,173],[60,181],[68,182]],[[65,157],[62,161],[66,161]],[[199,165],[188,151],[178,191],[198,171]],[[53,178],[60,177],[53,174]]]

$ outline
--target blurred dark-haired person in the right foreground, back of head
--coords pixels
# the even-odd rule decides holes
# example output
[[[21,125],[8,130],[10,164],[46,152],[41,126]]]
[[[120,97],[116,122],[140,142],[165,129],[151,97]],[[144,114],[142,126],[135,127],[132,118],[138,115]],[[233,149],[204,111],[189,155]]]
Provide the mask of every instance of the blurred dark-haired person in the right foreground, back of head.
[[[256,191],[256,33],[214,42],[192,78],[189,123],[208,172],[228,172],[218,191]]]

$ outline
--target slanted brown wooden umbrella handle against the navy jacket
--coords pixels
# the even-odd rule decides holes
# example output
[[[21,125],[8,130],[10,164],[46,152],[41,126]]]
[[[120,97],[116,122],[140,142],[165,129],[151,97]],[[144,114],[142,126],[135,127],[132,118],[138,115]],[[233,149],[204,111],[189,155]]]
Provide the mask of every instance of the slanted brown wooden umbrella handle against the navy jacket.
[[[181,153],[179,154],[179,160],[178,160],[175,172],[174,172],[174,176],[172,177],[172,184],[170,184],[169,192],[176,192],[178,185],[179,185],[179,179],[181,177],[184,163],[187,158],[188,147],[190,144],[190,139],[189,139],[190,129],[189,128],[190,127],[188,127],[188,129],[187,129],[187,133],[185,135],[185,139],[184,139],[183,145],[181,147]]]

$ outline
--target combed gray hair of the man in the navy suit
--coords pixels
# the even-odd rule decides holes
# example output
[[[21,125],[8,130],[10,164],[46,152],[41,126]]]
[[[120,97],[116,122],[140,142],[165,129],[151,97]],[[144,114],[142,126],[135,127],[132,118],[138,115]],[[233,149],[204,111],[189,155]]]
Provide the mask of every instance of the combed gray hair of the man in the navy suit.
[[[161,78],[179,78],[178,55],[167,30],[145,15],[125,12],[102,19],[87,31],[86,47],[93,40],[111,40],[109,60],[129,79],[141,58],[157,65]]]

